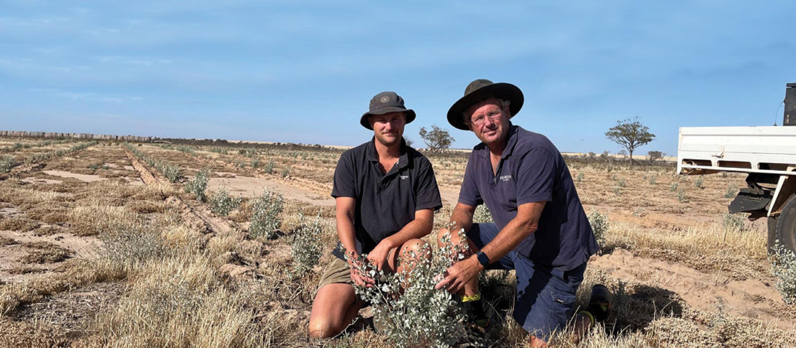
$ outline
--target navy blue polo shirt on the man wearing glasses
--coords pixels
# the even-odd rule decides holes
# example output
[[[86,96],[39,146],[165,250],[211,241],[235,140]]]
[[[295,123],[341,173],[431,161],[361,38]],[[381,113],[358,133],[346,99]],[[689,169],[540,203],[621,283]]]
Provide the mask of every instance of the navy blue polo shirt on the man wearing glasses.
[[[458,201],[473,207],[486,203],[500,230],[517,216],[517,206],[547,201],[539,228],[515,250],[537,265],[574,269],[599,247],[564,157],[544,135],[520,126],[509,132],[497,175],[490,149],[484,143],[473,148]]]

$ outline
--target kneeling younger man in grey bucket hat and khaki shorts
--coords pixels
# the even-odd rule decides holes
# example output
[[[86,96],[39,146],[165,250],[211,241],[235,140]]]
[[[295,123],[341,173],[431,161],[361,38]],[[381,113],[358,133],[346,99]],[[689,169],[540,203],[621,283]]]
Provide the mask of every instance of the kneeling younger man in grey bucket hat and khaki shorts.
[[[365,306],[353,284],[369,286],[373,280],[352,267],[355,257],[367,253],[371,267],[399,273],[412,259],[430,257],[420,253],[427,243],[419,238],[431,233],[442,199],[431,162],[402,137],[414,119],[415,111],[395,92],[379,93],[360,118],[373,139],[338,161],[332,196],[340,242],[312,305],[310,337],[339,334]],[[349,261],[346,253],[353,255]]]

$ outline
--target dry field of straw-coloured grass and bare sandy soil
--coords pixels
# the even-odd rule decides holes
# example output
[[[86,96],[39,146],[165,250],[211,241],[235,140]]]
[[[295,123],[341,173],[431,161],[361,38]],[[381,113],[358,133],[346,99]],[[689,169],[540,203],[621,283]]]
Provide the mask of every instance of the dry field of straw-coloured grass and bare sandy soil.
[[[0,173],[0,346],[390,346],[368,310],[334,340],[305,330],[337,240],[329,193],[342,150],[245,146],[0,139],[0,158],[14,163]],[[430,158],[442,226],[466,154]],[[182,177],[170,182],[147,159],[179,166]],[[724,215],[724,195],[743,176],[568,164],[587,213],[607,215],[610,226],[579,302],[602,283],[616,293],[616,311],[581,342],[561,334],[556,346],[796,346],[796,306],[773,286],[765,223]],[[203,168],[209,195],[241,198],[228,215],[185,193]],[[266,190],[285,199],[272,238],[249,233]],[[316,215],[321,259],[297,273],[291,245]],[[490,346],[522,346],[524,331],[503,319],[511,279],[492,271],[484,279]]]

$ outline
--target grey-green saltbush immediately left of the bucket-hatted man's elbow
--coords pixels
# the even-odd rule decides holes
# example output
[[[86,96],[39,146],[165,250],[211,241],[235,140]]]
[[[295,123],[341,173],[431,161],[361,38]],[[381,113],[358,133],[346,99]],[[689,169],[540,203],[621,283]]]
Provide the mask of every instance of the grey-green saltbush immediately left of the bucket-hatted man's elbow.
[[[321,226],[321,215],[311,223],[304,220],[304,215],[298,217],[298,228],[294,230],[291,254],[293,255],[293,269],[297,276],[303,276],[309,272],[321,258],[321,239],[323,228]]]

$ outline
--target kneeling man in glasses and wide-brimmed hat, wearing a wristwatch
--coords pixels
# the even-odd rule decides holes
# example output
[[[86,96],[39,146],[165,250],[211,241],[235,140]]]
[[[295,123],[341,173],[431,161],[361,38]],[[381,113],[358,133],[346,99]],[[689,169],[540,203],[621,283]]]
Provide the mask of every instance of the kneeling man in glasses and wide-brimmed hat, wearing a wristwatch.
[[[452,126],[470,130],[482,142],[470,153],[451,216],[457,229],[466,230],[474,254],[447,269],[436,287],[462,296],[474,309],[470,319],[483,325],[488,322],[478,273],[515,269],[514,319],[531,334],[529,346],[546,346],[550,334],[573,319],[586,262],[599,247],[556,146],[510,121],[523,100],[513,84],[478,79],[448,111]],[[475,208],[483,203],[494,223],[473,223]],[[447,230],[439,231],[440,238],[443,234]],[[595,285],[590,306],[576,314],[576,331],[607,318],[609,296],[607,288]]]

